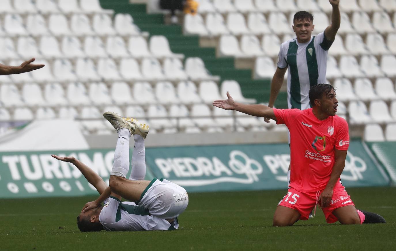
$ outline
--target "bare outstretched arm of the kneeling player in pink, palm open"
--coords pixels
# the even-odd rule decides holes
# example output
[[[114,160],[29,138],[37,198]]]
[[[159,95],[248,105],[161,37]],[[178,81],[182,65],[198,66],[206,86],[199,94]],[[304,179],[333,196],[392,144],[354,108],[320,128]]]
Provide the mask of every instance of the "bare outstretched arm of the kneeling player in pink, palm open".
[[[276,121],[274,110],[268,106],[264,105],[246,105],[234,102],[234,99],[227,92],[228,99],[225,100],[215,100],[213,106],[218,108],[223,108],[225,110],[235,110],[246,113],[248,115],[256,117],[268,117]]]

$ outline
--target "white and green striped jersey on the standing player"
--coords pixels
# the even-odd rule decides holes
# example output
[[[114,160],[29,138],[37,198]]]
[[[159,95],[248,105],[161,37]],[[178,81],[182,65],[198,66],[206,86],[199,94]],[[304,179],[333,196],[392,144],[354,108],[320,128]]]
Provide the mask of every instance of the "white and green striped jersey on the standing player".
[[[324,32],[311,37],[307,43],[293,38],[282,43],[278,54],[278,67],[288,67],[287,106],[289,109],[308,109],[309,87],[326,83],[327,52],[333,42]]]

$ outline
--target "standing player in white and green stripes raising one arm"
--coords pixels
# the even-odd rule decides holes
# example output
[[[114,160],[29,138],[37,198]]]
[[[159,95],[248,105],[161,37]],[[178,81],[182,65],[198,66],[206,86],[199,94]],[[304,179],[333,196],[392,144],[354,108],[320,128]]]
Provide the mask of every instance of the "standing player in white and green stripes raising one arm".
[[[326,83],[327,53],[341,23],[340,1],[329,0],[329,2],[333,6],[331,24],[317,36],[311,36],[315,27],[312,14],[307,11],[295,13],[292,27],[296,37],[280,46],[278,67],[271,81],[269,107],[274,107],[286,70],[288,70],[287,107],[289,109],[310,108],[309,88],[318,83]],[[264,120],[269,123],[269,118]],[[290,144],[290,134],[288,136]],[[290,181],[290,165],[287,181]]]

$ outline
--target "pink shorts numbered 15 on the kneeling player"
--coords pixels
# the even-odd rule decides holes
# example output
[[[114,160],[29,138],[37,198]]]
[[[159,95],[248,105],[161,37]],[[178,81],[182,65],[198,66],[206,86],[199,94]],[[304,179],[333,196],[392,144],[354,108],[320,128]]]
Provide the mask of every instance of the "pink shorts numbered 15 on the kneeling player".
[[[309,213],[315,207],[316,197],[319,196],[322,191],[323,189],[320,190],[319,193],[300,192],[290,187],[278,206],[285,206],[299,211],[301,214],[300,220],[306,221],[309,217]],[[322,208],[327,223],[335,223],[338,221],[337,217],[333,215],[334,209],[349,205],[355,206],[350,196],[346,193],[345,187],[342,185],[341,181],[338,181],[333,189],[331,203],[326,208]],[[320,207],[320,202],[318,202],[318,207]]]

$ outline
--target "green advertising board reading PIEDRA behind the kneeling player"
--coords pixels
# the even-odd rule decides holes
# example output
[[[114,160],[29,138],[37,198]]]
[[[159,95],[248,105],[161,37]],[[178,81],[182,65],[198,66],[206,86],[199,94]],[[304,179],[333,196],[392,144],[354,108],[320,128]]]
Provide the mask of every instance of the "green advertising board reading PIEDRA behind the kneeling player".
[[[287,144],[160,147],[146,149],[152,174],[190,192],[286,189]],[[361,142],[351,142],[341,181],[346,187],[388,185]]]

